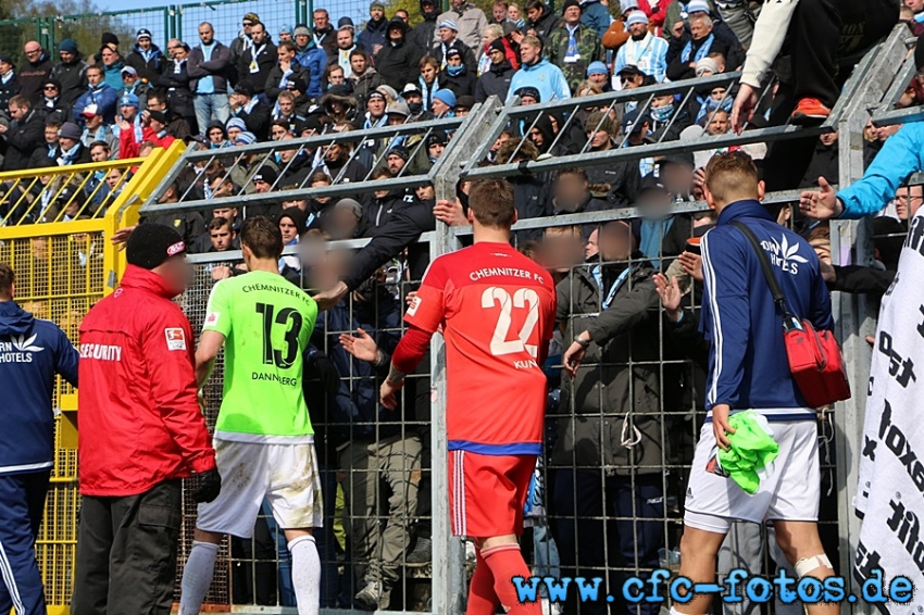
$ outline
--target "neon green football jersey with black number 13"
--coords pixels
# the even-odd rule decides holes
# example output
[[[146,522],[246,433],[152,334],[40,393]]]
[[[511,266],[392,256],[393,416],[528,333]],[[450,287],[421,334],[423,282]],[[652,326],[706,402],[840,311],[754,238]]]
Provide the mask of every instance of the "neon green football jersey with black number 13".
[[[215,435],[244,442],[310,441],[302,353],[317,304],[280,275],[251,272],[221,280],[203,330],[225,336],[225,382]]]

